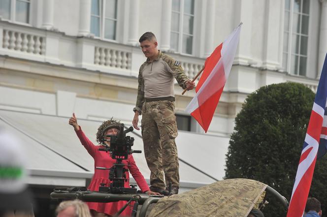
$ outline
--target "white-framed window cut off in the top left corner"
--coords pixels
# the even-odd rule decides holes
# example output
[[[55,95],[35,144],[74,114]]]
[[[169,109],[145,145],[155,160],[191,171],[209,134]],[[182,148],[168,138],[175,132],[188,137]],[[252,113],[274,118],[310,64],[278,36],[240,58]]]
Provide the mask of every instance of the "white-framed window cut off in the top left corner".
[[[30,0],[0,0],[2,19],[30,23]]]

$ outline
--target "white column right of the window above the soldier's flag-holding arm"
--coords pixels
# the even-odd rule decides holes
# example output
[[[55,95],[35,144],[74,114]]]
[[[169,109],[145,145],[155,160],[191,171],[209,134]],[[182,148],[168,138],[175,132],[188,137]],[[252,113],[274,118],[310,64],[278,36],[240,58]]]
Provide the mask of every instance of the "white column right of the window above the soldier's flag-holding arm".
[[[213,37],[215,31],[215,0],[207,0],[206,17],[205,17],[205,41],[204,57],[210,56],[215,47]]]

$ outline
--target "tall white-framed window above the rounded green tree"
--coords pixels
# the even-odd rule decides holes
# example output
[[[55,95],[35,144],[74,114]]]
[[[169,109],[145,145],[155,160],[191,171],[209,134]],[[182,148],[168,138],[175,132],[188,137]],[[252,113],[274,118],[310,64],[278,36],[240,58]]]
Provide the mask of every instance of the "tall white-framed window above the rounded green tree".
[[[306,75],[310,0],[285,0],[283,68]]]

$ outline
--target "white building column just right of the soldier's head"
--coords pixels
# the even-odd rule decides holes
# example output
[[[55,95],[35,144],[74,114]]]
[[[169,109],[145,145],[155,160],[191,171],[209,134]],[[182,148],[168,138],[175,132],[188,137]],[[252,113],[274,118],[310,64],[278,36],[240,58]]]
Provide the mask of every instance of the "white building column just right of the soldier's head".
[[[170,49],[170,28],[171,28],[171,0],[163,0],[161,15],[161,40],[160,49]]]

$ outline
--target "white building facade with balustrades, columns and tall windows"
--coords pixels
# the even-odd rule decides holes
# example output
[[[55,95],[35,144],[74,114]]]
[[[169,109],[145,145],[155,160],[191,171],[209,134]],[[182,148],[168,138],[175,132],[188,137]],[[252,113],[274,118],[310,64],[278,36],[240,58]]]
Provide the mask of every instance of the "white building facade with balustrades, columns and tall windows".
[[[144,32],[192,79],[243,22],[208,130],[208,141],[225,151],[249,93],[281,82],[316,91],[327,53],[327,0],[1,0],[0,17],[0,110],[125,124],[145,61]],[[182,91],[176,84],[179,129],[202,134],[184,111],[195,92]],[[218,167],[221,179],[224,164]]]

